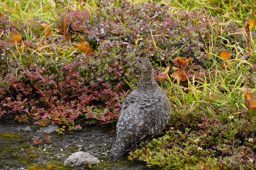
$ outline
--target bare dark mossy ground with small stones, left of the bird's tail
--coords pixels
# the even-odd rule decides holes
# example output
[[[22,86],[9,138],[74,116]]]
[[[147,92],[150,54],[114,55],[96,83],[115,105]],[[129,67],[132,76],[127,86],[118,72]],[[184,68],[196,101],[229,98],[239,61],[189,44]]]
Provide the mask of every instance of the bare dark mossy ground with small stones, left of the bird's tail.
[[[29,128],[30,127],[30,128]],[[144,162],[129,161],[127,156],[115,163],[107,158],[116,133],[112,126],[83,126],[81,131],[47,134],[39,125],[4,122],[0,120],[0,170],[146,170]],[[30,130],[31,129],[31,130]],[[30,131],[29,131],[30,130]],[[44,135],[51,136],[46,143]],[[35,144],[31,138],[41,138],[41,144]],[[99,164],[84,164],[80,167],[63,165],[72,154],[84,151],[98,158]]]

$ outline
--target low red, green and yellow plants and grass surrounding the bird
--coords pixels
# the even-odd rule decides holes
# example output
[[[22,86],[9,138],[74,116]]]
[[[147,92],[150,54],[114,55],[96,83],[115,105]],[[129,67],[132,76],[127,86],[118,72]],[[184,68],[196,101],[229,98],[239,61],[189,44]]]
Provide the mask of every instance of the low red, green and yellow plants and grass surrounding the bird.
[[[59,133],[114,126],[146,56],[172,118],[129,158],[163,169],[256,168],[253,0],[1,5],[0,119],[55,123]]]

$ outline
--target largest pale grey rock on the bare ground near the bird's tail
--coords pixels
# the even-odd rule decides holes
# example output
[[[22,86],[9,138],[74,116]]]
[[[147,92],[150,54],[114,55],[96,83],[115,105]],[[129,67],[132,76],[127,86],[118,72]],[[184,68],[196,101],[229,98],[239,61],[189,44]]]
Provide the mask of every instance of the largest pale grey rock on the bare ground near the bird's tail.
[[[100,161],[90,153],[86,152],[75,152],[64,161],[64,165],[67,166],[79,166],[81,164],[97,164]]]

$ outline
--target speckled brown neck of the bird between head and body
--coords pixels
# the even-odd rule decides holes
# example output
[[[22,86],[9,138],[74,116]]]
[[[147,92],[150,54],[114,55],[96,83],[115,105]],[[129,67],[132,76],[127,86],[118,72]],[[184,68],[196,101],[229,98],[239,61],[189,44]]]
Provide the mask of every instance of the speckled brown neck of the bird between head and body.
[[[140,80],[137,84],[139,89],[158,89],[159,86],[153,77],[152,72],[144,72],[140,75]]]

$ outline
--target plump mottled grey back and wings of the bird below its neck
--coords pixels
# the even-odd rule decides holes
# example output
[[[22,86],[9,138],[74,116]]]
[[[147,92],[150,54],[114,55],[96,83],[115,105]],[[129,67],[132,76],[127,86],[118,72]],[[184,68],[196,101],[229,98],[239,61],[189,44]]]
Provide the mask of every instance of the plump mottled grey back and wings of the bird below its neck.
[[[123,101],[117,122],[117,135],[132,132],[137,141],[147,135],[158,134],[171,116],[169,99],[162,89],[150,93],[131,93]],[[126,132],[127,131],[127,132]]]

